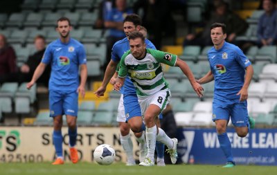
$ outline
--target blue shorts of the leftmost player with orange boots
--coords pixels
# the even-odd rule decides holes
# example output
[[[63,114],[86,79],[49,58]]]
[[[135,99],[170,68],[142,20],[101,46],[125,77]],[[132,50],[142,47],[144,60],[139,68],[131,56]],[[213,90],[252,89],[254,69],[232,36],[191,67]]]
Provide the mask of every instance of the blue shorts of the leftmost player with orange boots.
[[[49,91],[50,116],[78,115],[78,93]]]

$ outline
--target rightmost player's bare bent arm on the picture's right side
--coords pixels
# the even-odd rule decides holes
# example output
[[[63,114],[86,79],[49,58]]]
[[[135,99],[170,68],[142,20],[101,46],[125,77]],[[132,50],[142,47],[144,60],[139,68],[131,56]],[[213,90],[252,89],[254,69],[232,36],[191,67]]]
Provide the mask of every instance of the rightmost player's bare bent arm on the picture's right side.
[[[246,73],[245,73],[245,80],[244,84],[242,86],[242,89],[237,93],[237,95],[240,95],[240,102],[247,100],[248,98],[248,87],[253,77],[253,66],[247,66]]]

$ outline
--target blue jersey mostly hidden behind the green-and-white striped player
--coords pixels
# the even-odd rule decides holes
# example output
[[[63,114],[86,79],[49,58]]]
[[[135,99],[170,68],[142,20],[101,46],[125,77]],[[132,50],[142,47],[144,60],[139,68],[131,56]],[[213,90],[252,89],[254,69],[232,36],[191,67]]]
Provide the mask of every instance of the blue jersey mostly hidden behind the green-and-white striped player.
[[[156,49],[154,44],[150,42],[148,39],[145,39],[146,48]],[[129,41],[127,37],[116,42],[111,50],[111,59],[114,62],[120,62],[122,55],[129,50]],[[129,77],[125,78],[125,82],[120,91],[122,94],[136,94],[136,89],[134,84]]]

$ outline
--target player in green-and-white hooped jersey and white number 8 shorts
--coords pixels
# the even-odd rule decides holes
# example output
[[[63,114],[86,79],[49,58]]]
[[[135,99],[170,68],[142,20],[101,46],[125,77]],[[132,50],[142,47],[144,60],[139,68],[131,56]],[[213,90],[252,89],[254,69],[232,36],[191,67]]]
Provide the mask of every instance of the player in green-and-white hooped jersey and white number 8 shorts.
[[[163,77],[161,63],[169,66],[179,66],[200,98],[202,97],[203,88],[196,82],[186,62],[177,58],[177,55],[146,48],[145,38],[138,31],[134,31],[129,35],[129,46],[130,50],[120,60],[120,69],[114,89],[118,91],[123,86],[126,75],[130,77],[136,87],[136,94],[139,98],[141,113],[146,125],[145,133],[148,147],[148,156],[139,165],[154,165],[156,140],[168,147],[171,161],[175,164],[178,140],[177,138],[170,139],[163,129],[157,129],[154,122],[154,119],[159,116],[159,113],[170,101],[170,90]]]

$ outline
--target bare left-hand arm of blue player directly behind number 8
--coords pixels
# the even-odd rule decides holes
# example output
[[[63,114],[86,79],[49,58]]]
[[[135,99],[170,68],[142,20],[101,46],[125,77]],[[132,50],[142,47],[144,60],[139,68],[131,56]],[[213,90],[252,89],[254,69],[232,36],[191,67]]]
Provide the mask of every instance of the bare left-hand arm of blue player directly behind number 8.
[[[107,89],[107,85],[109,84],[109,80],[111,80],[111,77],[113,77],[114,73],[116,72],[117,64],[118,62],[114,62],[113,60],[111,60],[107,65],[102,85],[94,92],[94,94],[96,94],[98,98],[104,95]]]

